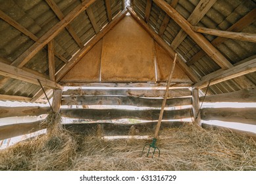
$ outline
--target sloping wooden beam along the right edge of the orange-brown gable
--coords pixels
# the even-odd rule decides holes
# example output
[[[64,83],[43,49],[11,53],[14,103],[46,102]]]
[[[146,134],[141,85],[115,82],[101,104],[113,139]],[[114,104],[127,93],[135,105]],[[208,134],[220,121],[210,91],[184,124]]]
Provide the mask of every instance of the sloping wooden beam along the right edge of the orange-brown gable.
[[[157,41],[157,43],[161,47],[163,47],[163,49],[165,49],[168,55],[174,58],[175,52],[167,45],[167,43],[163,41],[163,39],[159,35],[157,35],[153,30],[151,30],[151,28],[149,28],[149,26],[144,21],[138,18],[136,13],[130,7],[128,7],[128,11],[130,12],[131,16],[141,25],[141,27],[144,28],[144,30],[147,33],[149,33],[149,35],[151,35],[153,39],[155,39],[155,41]],[[193,73],[193,71],[190,68],[188,68],[186,63],[184,63],[180,57],[177,57],[177,64],[180,66],[180,68],[182,68],[182,70],[184,70],[184,72],[188,75],[190,80],[192,80],[193,82],[199,81],[199,78]]]

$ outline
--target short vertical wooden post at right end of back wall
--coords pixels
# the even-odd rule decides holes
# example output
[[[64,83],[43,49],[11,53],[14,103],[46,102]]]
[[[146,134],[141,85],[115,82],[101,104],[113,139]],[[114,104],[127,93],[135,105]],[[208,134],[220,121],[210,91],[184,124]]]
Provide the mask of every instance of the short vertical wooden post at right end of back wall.
[[[192,89],[193,122],[201,126],[199,89]]]

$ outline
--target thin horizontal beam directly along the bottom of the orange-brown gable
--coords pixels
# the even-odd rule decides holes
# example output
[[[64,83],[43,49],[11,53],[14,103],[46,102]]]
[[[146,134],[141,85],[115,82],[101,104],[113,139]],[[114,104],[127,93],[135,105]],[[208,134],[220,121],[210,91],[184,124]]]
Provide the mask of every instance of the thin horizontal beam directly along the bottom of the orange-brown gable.
[[[63,86],[85,87],[166,87],[166,82],[59,82]],[[170,83],[171,87],[191,87],[193,83]]]

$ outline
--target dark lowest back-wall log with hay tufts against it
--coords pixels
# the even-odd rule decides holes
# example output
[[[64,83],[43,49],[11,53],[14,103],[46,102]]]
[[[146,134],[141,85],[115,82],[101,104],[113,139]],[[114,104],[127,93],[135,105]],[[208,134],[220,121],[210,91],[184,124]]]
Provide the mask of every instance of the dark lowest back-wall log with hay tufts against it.
[[[181,127],[186,122],[162,122],[161,129],[169,127]],[[96,135],[100,126],[101,136],[129,135],[130,129],[134,126],[135,135],[153,133],[157,122],[143,122],[138,124],[114,124],[114,123],[88,123],[88,124],[63,124],[72,133],[82,135]],[[98,129],[99,130],[99,129]],[[160,133],[161,134],[161,133]]]

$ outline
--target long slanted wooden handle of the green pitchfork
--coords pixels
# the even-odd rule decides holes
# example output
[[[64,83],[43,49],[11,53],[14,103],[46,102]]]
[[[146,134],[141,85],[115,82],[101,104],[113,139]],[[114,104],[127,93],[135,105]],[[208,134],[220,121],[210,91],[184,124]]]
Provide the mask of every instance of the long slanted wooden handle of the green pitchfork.
[[[170,76],[168,78],[168,83],[167,83],[166,89],[165,89],[165,97],[163,99],[163,103],[162,103],[162,106],[161,106],[161,111],[160,111],[160,114],[159,114],[157,127],[155,128],[155,137],[154,138],[156,138],[156,139],[158,137],[159,129],[160,129],[161,122],[162,122],[162,119],[163,119],[163,113],[164,113],[164,110],[165,110],[165,104],[166,104],[166,99],[167,99],[167,96],[168,96],[168,90],[169,90],[169,87],[170,87],[170,81],[172,79],[172,74],[174,73],[176,58],[177,58],[177,54],[175,54],[175,57],[174,57],[174,60],[173,60],[173,63],[172,63],[172,69],[170,70]]]

